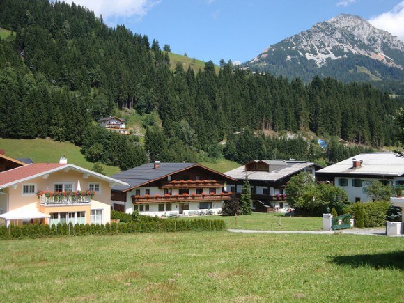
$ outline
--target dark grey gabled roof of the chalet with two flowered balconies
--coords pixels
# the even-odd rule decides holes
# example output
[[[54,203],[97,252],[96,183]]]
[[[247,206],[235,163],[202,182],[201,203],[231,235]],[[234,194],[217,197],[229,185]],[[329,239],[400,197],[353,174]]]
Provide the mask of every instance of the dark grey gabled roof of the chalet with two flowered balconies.
[[[216,173],[223,178],[231,179],[223,173],[219,173],[218,171],[214,171],[212,169],[208,169],[208,167],[202,166],[201,164],[196,163],[160,163],[157,169],[154,169],[154,163],[147,163],[141,166],[134,167],[133,169],[128,169],[127,171],[123,171],[121,173],[117,173],[112,176],[112,178],[116,178],[123,182],[127,182],[130,186],[114,186],[112,189],[128,192],[136,187],[144,186],[150,182],[157,181],[162,178],[166,178],[167,176],[173,175],[174,173],[179,173],[181,171],[185,171],[192,167],[201,167],[202,169],[206,169],[211,171],[212,173]]]

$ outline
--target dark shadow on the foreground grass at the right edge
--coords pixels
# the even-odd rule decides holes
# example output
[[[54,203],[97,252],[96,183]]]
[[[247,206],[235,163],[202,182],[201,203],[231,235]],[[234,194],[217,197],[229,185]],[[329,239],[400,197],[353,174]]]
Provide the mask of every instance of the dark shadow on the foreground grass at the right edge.
[[[335,256],[331,261],[350,267],[370,266],[376,269],[391,268],[404,270],[404,251],[392,251],[386,254],[365,254],[354,256]]]

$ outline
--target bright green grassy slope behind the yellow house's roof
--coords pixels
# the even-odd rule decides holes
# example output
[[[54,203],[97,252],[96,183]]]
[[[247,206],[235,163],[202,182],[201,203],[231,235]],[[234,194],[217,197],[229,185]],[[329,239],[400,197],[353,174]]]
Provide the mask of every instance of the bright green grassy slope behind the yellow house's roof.
[[[93,163],[84,159],[80,148],[69,142],[55,142],[51,139],[0,139],[0,149],[6,150],[9,157],[30,157],[34,163],[57,163],[61,156],[68,158],[68,163],[75,164],[85,169],[92,169]],[[104,173],[111,176],[120,170],[115,166],[101,164]]]

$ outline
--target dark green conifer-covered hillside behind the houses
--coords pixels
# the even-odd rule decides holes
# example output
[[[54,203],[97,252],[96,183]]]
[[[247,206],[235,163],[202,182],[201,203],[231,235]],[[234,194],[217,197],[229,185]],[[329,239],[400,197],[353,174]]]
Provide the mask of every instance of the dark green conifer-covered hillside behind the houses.
[[[88,159],[121,169],[147,161],[146,150],[162,161],[219,157],[219,141],[235,143],[233,134],[244,130],[239,137],[272,129],[372,146],[396,141],[397,102],[366,84],[319,77],[304,84],[231,63],[217,74],[211,61],[201,72],[180,64],[171,72],[157,41],[125,26],[110,29],[75,4],[2,0],[0,27],[15,31],[0,41],[0,137],[72,141]],[[95,126],[116,109],[157,111],[162,126],[146,123],[143,148],[137,137]],[[225,154],[236,157],[230,148]]]

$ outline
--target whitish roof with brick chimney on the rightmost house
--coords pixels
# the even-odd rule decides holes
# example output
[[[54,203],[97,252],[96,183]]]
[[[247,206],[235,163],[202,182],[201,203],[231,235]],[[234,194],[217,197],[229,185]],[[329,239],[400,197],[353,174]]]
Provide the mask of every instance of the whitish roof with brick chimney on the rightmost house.
[[[359,167],[353,167],[354,159],[359,162],[362,160]],[[320,169],[316,173],[403,176],[404,158],[397,157],[395,153],[361,153]]]

